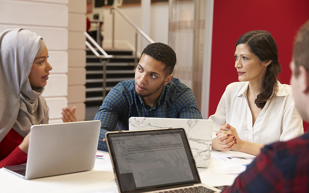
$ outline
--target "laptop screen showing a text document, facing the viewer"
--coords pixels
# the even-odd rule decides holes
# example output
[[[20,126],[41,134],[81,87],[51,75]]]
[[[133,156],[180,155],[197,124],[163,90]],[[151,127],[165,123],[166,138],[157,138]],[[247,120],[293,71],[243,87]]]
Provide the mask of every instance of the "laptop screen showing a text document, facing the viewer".
[[[200,183],[183,128],[106,134],[121,193]]]

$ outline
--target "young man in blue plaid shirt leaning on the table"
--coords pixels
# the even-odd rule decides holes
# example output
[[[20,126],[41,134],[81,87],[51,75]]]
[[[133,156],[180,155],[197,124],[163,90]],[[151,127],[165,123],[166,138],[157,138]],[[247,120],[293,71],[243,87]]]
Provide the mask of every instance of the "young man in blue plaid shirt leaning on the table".
[[[143,50],[135,79],[113,87],[95,115],[102,122],[98,150],[108,151],[105,133],[116,125],[129,130],[130,117],[202,119],[192,90],[171,74],[175,64],[176,53],[166,44]]]

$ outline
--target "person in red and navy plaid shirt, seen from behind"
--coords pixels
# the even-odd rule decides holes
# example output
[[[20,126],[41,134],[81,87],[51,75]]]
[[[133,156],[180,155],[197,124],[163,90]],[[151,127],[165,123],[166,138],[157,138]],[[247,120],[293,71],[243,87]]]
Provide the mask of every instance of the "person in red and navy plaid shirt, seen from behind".
[[[309,121],[309,20],[298,32],[290,63],[295,105]],[[227,192],[309,192],[309,133],[266,145]]]

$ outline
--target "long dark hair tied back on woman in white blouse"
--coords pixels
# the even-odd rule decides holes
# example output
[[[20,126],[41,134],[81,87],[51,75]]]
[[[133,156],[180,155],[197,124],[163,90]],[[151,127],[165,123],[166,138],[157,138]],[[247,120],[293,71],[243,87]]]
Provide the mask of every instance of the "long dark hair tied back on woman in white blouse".
[[[276,93],[278,89],[277,75],[281,71],[281,65],[278,61],[277,44],[268,31],[249,31],[240,36],[236,47],[239,44],[247,44],[250,52],[259,58],[260,63],[271,60],[261,83],[261,93],[254,101],[257,107],[263,108],[266,102],[274,97],[273,93]]]

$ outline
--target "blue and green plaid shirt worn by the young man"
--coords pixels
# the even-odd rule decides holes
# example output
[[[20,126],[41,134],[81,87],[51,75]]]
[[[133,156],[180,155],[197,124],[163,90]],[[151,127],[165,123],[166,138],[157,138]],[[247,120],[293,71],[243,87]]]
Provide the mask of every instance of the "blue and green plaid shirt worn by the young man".
[[[135,81],[122,81],[109,91],[94,120],[101,120],[98,150],[108,151],[105,133],[129,130],[130,117],[158,117],[203,119],[197,102],[190,88],[173,78],[163,86],[160,97],[154,107],[144,104],[142,98],[135,94]]]

